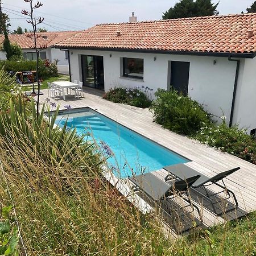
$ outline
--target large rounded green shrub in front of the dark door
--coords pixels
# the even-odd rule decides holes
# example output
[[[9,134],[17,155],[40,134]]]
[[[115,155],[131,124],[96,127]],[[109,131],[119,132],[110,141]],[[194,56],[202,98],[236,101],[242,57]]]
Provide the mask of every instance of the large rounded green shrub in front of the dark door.
[[[179,95],[176,90],[158,89],[151,106],[154,121],[179,134],[192,135],[203,123],[211,123],[210,115],[197,101]]]

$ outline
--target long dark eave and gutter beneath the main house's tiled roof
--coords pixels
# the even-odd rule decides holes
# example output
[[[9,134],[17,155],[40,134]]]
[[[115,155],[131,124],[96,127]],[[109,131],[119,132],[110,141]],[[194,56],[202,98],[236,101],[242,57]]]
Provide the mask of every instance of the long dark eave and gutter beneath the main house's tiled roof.
[[[194,56],[213,56],[213,57],[237,57],[253,59],[256,52],[203,52],[203,51],[170,51],[161,49],[127,49],[127,48],[109,48],[109,47],[71,47],[71,46],[53,46],[58,49],[83,49],[92,51],[117,51],[117,52],[140,52],[140,53],[161,53],[175,55],[194,55]]]

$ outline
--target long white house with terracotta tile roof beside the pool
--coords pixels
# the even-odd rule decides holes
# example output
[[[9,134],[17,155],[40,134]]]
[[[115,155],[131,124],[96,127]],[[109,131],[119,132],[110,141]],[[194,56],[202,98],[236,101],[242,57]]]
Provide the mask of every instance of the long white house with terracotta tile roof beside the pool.
[[[255,133],[256,14],[98,24],[55,47],[84,86],[174,86]]]

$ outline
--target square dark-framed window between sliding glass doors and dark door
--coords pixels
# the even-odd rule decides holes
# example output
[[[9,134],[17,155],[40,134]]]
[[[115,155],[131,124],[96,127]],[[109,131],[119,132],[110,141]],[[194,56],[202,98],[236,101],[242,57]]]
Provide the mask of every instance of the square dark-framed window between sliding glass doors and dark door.
[[[143,79],[144,60],[135,58],[123,58],[123,76]]]

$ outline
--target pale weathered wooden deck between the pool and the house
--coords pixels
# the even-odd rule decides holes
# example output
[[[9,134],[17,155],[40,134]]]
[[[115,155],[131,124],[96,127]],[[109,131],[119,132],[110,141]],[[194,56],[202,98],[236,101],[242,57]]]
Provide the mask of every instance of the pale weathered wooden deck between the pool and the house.
[[[49,98],[47,96],[48,90],[43,90],[43,93],[44,95],[40,97],[41,102],[45,102],[46,98]],[[101,95],[101,92],[98,91],[97,94]],[[195,170],[204,175],[213,176],[234,167],[241,167],[241,170],[238,170],[225,179],[227,187],[237,196],[238,209],[226,213],[225,216],[217,217],[211,210],[205,207],[201,208],[203,210],[203,222],[205,226],[212,226],[226,220],[233,220],[256,210],[256,166],[254,164],[163,129],[163,127],[153,122],[152,113],[147,109],[114,104],[102,99],[100,96],[96,96],[94,91],[90,89],[85,89],[84,98],[75,99],[74,96],[68,96],[66,101],[56,98],[55,100],[51,99],[51,102],[60,104],[60,109],[64,109],[65,105],[71,105],[72,109],[82,107],[92,108],[129,129],[142,134],[144,137],[162,144],[164,147],[190,159],[191,162],[187,163],[187,165],[195,168]],[[154,174],[163,178],[167,172],[158,170]]]

